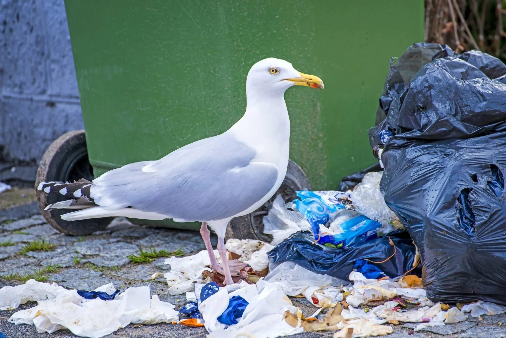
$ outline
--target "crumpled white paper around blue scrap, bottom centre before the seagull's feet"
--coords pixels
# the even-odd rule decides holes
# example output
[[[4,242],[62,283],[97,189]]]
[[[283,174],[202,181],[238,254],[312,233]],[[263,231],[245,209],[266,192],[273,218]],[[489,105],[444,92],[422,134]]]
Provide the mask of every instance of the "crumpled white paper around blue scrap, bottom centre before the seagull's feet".
[[[200,303],[199,310],[204,318],[204,326],[209,332],[207,338],[275,338],[303,332],[302,327],[294,328],[283,320],[286,310],[296,312],[283,290],[278,285],[266,283],[260,279],[257,284],[245,285],[227,292],[226,288],[213,294]],[[240,296],[248,302],[237,324],[225,325],[217,318],[227,309],[229,299]]]

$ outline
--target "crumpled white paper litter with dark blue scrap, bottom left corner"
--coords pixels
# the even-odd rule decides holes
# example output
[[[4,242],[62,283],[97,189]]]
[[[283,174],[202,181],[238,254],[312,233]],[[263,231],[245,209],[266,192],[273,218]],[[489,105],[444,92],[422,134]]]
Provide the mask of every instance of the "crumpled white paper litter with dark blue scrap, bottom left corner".
[[[62,328],[75,335],[98,338],[129,324],[172,323],[178,320],[174,305],[151,298],[149,286],[130,287],[119,293],[112,283],[95,291],[67,290],[56,283],[34,279],[0,289],[0,309],[13,310],[36,301],[37,306],[18,311],[10,323],[35,325],[37,332]]]

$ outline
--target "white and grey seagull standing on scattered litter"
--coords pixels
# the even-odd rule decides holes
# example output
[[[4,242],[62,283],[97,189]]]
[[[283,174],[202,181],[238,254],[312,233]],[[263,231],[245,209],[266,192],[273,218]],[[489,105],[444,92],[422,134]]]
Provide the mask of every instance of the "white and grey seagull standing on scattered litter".
[[[67,221],[124,216],[202,222],[200,234],[210,266],[224,275],[226,285],[233,284],[225,231],[230,220],[254,212],[283,182],[290,143],[284,93],[292,86],[323,88],[323,82],[285,60],[257,62],[246,78],[246,111],[225,133],[159,160],[126,164],[91,182],[41,182],[38,190],[71,198],[46,210],[77,209],[61,216]],[[218,235],[223,268],[215,258],[208,226]]]

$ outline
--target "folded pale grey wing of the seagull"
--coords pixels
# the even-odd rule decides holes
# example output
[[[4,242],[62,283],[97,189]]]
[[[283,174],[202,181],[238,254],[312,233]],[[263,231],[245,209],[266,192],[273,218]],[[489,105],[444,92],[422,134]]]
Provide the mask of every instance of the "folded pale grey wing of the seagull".
[[[252,162],[254,149],[227,135],[200,140],[158,161],[125,165],[93,181],[106,208],[132,206],[181,222],[233,217],[274,187],[278,168]]]

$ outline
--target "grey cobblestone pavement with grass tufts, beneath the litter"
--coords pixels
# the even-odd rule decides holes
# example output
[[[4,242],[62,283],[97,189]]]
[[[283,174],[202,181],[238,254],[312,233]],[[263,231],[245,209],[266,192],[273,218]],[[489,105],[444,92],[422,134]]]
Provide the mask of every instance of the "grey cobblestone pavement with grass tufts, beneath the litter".
[[[29,251],[24,255],[19,252],[25,243],[44,239],[56,247],[52,251]],[[112,282],[118,289],[130,286],[149,285],[152,294],[171,302],[179,310],[185,303],[185,295],[173,296],[167,293],[163,277],[151,281],[155,272],[168,271],[163,264],[164,258],[152,263],[132,264],[126,257],[139,254],[139,249],[156,248],[173,251],[182,246],[185,255],[195,254],[205,249],[200,234],[194,231],[181,231],[166,228],[149,228],[134,225],[121,218],[115,219],[104,231],[89,236],[67,236],[59,233],[47,224],[34,203],[0,210],[0,243],[11,241],[14,245],[0,246],[0,275],[19,273],[36,273],[44,268],[58,266],[51,273],[44,273],[48,281],[75,289],[95,289]],[[213,238],[216,245],[216,237]],[[42,270],[40,270],[42,269]],[[23,282],[0,278],[0,287],[17,285]],[[305,299],[292,299],[293,305],[303,309],[305,315],[314,312],[315,308]],[[11,337],[46,337],[47,333],[36,333],[29,325],[8,323],[9,317],[16,311],[35,306],[28,302],[13,311],[0,311],[0,332]],[[499,322],[504,323],[501,326]],[[406,337],[415,324],[407,323],[394,327],[389,337]],[[409,332],[411,333],[411,332]],[[68,330],[59,330],[52,337],[72,337]],[[107,337],[205,337],[203,328],[186,327],[173,324],[129,325]],[[303,337],[330,337],[329,332],[302,333]],[[506,337],[506,315],[483,316],[482,320],[471,318],[468,321],[427,328],[410,337]]]

